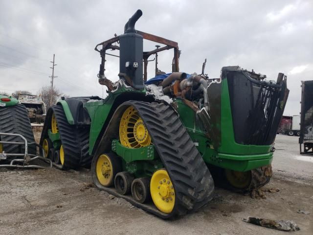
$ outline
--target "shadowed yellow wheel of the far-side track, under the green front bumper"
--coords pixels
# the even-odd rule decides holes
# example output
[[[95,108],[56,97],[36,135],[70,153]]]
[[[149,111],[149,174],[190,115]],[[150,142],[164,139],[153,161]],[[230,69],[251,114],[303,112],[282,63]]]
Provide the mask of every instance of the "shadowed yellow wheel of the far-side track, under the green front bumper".
[[[252,180],[251,171],[225,169],[225,176],[228,183],[235,188],[248,188]]]

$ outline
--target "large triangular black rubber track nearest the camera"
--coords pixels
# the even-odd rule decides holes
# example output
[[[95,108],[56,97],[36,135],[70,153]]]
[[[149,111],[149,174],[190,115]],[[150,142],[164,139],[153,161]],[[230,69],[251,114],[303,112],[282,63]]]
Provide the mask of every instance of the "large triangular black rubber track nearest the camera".
[[[129,196],[118,196],[161,218],[180,216],[188,211],[199,210],[206,205],[212,199],[213,179],[178,114],[171,106],[164,103],[133,100],[123,103],[115,113],[119,109],[125,110],[129,106],[134,106],[143,119],[158,156],[169,173],[176,193],[175,206],[170,214],[165,214],[158,211],[154,205],[140,204]],[[93,161],[91,170],[94,171],[94,169]],[[116,195],[114,189],[105,188],[99,184],[94,172],[92,172],[92,176],[98,188]]]

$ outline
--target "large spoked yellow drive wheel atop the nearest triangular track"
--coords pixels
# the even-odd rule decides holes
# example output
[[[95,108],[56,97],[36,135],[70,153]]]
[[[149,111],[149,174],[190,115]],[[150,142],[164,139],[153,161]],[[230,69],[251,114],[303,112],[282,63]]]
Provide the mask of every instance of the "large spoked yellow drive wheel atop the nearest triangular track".
[[[140,148],[150,145],[151,136],[133,106],[127,108],[119,124],[119,139],[123,146]]]

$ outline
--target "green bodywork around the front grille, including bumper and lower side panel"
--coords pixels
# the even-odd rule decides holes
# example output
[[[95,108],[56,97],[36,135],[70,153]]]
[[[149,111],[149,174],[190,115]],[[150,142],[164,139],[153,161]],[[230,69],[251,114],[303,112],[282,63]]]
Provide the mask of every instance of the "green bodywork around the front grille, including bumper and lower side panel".
[[[213,147],[212,140],[203,132],[201,122],[197,120],[196,113],[181,99],[176,100],[179,118],[185,125],[188,134],[197,146],[203,160],[226,169],[247,171],[263,165],[270,164],[273,153],[271,145],[245,145],[238,144],[234,138],[234,129],[230,109],[227,80],[222,81],[221,97],[221,124],[212,123],[221,128],[221,143],[218,149]]]

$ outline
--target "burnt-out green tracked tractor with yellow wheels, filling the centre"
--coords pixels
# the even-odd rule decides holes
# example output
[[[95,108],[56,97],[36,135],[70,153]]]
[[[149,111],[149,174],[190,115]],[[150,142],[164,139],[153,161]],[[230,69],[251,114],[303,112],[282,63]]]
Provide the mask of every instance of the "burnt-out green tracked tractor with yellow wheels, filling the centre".
[[[200,75],[179,72],[178,44],[135,30],[141,15],[138,10],[129,19],[124,34],[95,47],[108,96],[63,98],[48,110],[41,137],[46,155],[64,169],[91,164],[96,187],[162,218],[207,204],[214,190],[210,171],[236,190],[267,184],[286,76],[266,81],[231,66],[210,79],[205,64]],[[143,39],[164,46],[143,51]],[[168,49],[174,58],[165,74],[157,54]],[[115,83],[104,75],[107,50],[119,50]],[[147,81],[151,55],[156,76]]]

